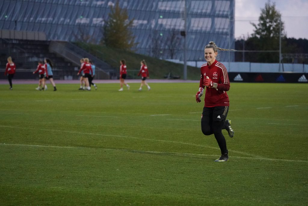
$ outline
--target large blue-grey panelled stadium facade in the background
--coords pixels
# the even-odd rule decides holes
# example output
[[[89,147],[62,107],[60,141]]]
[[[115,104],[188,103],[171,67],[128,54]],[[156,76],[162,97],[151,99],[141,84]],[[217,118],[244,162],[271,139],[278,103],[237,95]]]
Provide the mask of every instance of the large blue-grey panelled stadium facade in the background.
[[[0,29],[44,32],[47,40],[99,43],[102,27],[115,3],[116,0],[2,0]],[[127,9],[129,19],[134,19],[131,29],[139,43],[135,48],[137,53],[183,60],[186,48],[186,59],[199,61],[203,60],[204,46],[211,40],[221,48],[234,48],[235,0],[120,0],[119,3]],[[176,47],[170,49],[171,41]],[[222,55],[220,59],[233,60],[233,54]]]

